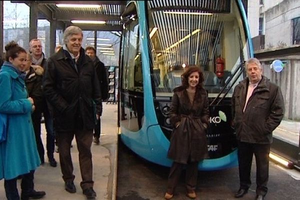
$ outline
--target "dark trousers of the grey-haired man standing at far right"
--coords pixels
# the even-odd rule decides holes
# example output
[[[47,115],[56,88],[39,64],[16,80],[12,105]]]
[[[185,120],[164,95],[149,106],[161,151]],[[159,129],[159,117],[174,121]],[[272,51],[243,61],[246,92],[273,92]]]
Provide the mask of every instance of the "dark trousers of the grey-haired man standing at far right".
[[[267,192],[270,144],[237,142],[238,170],[240,188],[248,189],[251,185],[251,164],[253,154],[256,161],[256,194]]]

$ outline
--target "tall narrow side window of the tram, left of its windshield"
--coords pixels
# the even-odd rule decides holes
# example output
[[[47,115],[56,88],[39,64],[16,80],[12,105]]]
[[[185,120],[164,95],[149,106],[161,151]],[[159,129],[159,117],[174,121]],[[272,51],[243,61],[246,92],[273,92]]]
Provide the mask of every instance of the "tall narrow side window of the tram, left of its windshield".
[[[124,19],[121,64],[121,125],[138,131],[143,121],[143,78],[138,18],[134,3],[130,3]]]

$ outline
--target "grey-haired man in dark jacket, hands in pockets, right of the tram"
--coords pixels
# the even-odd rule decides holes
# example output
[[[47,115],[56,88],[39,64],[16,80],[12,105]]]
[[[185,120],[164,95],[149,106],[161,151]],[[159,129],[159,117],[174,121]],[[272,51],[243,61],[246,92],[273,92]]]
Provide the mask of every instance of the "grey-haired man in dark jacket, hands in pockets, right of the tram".
[[[280,124],[284,103],[280,88],[262,75],[258,59],[245,63],[247,78],[234,88],[232,116],[238,147],[239,190],[242,197],[251,185],[252,156],[256,161],[256,200],[267,192],[272,131]]]

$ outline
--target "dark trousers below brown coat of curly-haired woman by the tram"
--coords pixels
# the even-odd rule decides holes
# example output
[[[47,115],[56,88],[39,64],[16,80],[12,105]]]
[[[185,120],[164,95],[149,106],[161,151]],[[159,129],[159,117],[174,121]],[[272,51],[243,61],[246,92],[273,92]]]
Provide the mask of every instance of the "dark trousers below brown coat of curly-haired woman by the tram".
[[[187,164],[182,164],[178,162],[173,162],[170,168],[170,172],[167,180],[167,193],[173,194],[175,187],[179,181],[181,171],[186,165],[185,172],[185,187],[187,192],[194,191],[196,189],[197,175],[198,175],[198,162],[189,162]]]

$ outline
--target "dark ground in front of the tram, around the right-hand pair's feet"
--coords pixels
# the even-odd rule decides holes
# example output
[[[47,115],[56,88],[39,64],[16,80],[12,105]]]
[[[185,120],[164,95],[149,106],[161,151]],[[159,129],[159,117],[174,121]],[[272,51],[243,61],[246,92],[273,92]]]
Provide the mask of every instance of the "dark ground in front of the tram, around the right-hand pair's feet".
[[[117,200],[161,200],[167,185],[168,167],[150,163],[134,154],[119,140],[118,145]],[[255,197],[255,161],[253,159],[249,191],[241,200]],[[199,171],[196,199],[236,200],[234,192],[239,187],[238,168],[218,171]],[[176,187],[174,200],[187,200],[184,172]],[[285,169],[270,162],[268,193],[265,200],[298,200],[300,196],[300,172]]]

